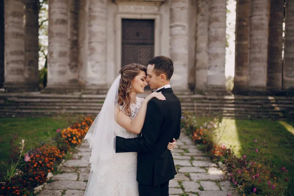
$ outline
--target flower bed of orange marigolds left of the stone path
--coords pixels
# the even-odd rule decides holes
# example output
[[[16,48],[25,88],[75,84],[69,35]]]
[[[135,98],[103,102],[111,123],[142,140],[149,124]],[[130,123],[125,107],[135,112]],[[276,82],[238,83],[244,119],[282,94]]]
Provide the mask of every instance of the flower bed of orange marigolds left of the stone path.
[[[6,181],[0,184],[0,196],[31,196],[34,187],[47,181],[49,172],[60,163],[70,147],[76,147],[85,137],[90,125],[91,118],[85,118],[82,123],[74,123],[66,129],[57,129],[58,133],[52,143],[43,144],[38,148],[28,150],[23,156],[24,141],[17,164],[7,167],[12,175],[5,177]],[[17,166],[19,171],[15,174],[12,166]]]

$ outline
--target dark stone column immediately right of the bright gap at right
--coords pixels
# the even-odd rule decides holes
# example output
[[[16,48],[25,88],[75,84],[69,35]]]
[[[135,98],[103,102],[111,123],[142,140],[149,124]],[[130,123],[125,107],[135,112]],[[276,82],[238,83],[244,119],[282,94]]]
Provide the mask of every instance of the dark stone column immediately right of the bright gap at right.
[[[237,0],[234,93],[248,85],[250,0]]]

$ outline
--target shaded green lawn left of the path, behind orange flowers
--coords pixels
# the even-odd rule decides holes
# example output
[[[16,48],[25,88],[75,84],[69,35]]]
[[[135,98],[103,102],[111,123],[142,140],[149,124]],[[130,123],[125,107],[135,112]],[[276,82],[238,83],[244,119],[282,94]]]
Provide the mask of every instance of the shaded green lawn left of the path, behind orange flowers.
[[[0,152],[1,160],[5,164],[9,162],[11,153],[11,140],[18,135],[15,145],[24,139],[25,151],[38,147],[41,142],[51,140],[56,134],[56,129],[66,128],[79,121],[80,116],[55,116],[40,118],[1,118],[0,119]],[[0,182],[3,181],[4,165],[0,162]]]

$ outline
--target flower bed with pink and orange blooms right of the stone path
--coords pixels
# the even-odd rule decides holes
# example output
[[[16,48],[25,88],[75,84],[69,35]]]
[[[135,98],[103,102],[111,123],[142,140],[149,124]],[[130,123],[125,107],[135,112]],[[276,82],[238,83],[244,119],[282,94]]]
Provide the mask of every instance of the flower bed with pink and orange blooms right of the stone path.
[[[254,140],[256,156],[248,158],[246,154],[237,157],[233,150],[214,140],[214,128],[219,125],[215,122],[197,125],[196,116],[186,113],[182,118],[182,130],[190,135],[208,156],[224,169],[227,179],[244,195],[284,196],[289,186],[288,170],[277,167],[277,163],[269,158],[270,141],[260,138]],[[225,166],[225,167],[223,167]]]

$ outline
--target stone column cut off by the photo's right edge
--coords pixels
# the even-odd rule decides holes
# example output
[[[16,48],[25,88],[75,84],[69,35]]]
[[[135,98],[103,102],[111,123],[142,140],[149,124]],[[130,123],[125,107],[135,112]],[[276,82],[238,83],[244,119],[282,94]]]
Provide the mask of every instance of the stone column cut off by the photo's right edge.
[[[286,0],[283,87],[294,88],[294,1]]]

